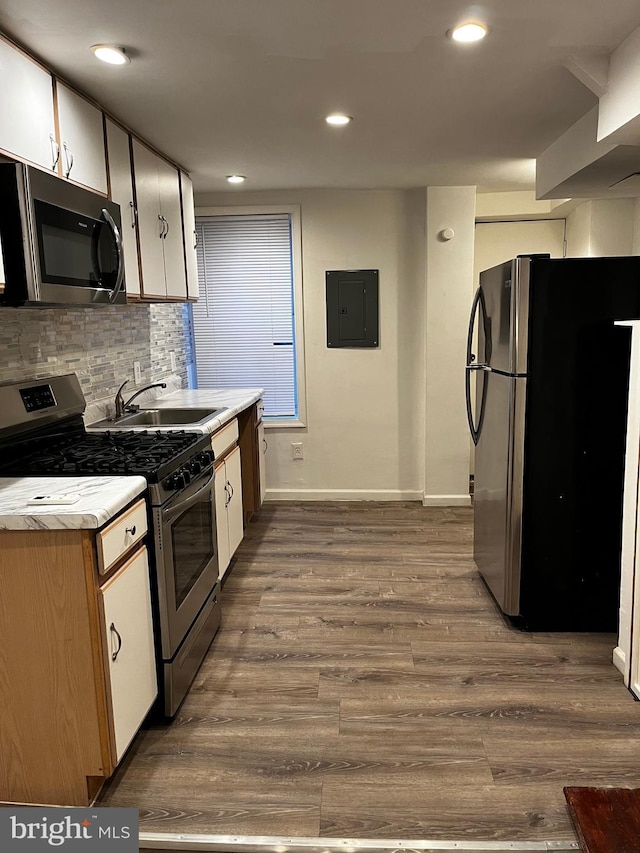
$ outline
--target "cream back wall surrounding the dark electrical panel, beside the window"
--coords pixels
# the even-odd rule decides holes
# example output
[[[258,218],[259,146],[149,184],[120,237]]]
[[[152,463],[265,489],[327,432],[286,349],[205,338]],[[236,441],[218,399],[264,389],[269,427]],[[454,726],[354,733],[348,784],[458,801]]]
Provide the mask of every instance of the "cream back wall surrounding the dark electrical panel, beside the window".
[[[307,426],[269,429],[271,499],[420,499],[424,191],[221,193],[196,207],[300,204]],[[325,271],[380,271],[380,346],[326,346]],[[304,459],[291,459],[301,441]]]

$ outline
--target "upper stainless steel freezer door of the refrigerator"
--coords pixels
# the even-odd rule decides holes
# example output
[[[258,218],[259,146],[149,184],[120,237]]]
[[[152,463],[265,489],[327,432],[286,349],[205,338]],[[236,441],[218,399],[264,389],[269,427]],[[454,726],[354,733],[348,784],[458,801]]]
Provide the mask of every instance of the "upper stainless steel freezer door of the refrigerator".
[[[480,273],[485,319],[478,324],[478,352],[500,373],[527,372],[530,270],[529,258],[518,258]]]

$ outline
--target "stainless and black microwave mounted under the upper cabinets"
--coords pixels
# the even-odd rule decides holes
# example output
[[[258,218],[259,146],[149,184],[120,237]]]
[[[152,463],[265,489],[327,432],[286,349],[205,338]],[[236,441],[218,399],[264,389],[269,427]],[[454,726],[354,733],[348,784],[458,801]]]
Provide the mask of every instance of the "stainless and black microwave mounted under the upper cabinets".
[[[126,302],[120,206],[23,163],[0,164],[2,305]]]

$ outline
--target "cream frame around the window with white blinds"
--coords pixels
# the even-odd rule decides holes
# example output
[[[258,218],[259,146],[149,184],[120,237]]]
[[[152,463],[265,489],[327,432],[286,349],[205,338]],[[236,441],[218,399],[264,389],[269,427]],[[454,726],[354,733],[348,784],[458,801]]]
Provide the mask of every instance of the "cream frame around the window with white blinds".
[[[297,418],[264,418],[266,429],[307,426],[307,382],[305,371],[304,301],[302,287],[302,225],[299,204],[260,204],[224,207],[196,207],[198,217],[264,216],[286,213],[291,217],[291,264],[293,274],[293,317],[295,331],[295,382],[298,401]]]

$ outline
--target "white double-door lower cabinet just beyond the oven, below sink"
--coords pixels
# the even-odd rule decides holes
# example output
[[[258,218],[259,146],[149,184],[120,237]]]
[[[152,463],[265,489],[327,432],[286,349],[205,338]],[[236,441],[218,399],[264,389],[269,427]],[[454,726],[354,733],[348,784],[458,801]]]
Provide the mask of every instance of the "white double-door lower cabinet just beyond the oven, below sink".
[[[244,535],[242,469],[238,446],[216,463],[215,493],[218,566],[222,578]]]

